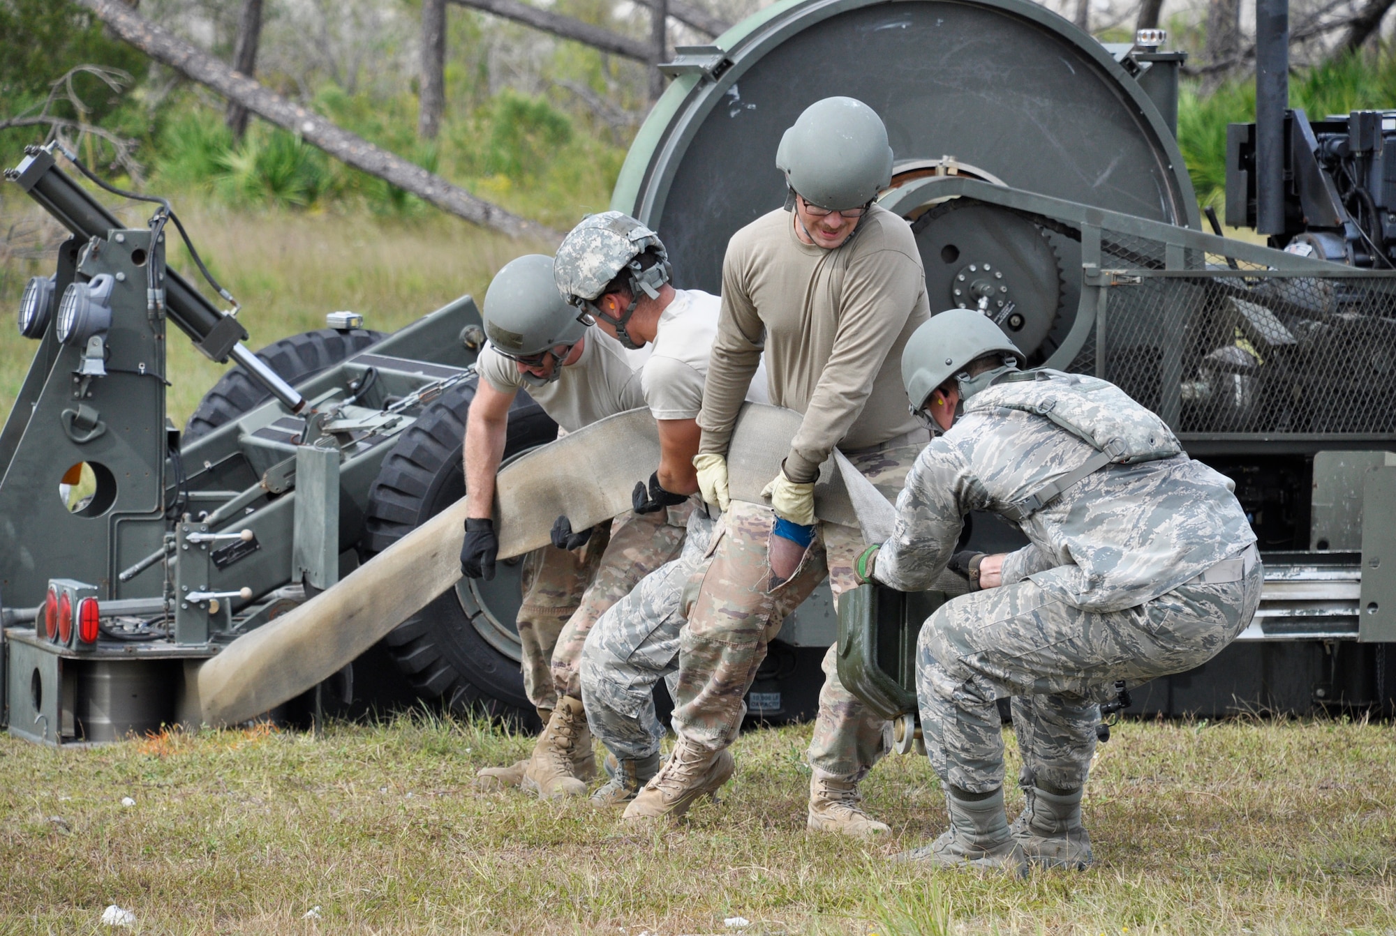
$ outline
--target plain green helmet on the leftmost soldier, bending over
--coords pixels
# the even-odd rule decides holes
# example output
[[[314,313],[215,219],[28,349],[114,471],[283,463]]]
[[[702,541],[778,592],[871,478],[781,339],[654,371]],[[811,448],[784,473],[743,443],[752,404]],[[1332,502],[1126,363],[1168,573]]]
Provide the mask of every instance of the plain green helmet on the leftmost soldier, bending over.
[[[524,364],[540,364],[553,357],[550,375],[522,374],[532,386],[556,381],[563,372],[563,361],[553,349],[560,345],[571,349],[586,333],[586,322],[557,294],[553,258],[543,254],[528,254],[505,264],[490,280],[480,317],[490,345],[504,357]]]

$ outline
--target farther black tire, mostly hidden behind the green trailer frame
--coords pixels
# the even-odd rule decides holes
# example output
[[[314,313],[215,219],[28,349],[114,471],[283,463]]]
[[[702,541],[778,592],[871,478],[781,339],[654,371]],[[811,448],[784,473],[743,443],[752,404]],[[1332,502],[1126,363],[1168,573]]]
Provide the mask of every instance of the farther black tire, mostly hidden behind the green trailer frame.
[[[295,385],[357,354],[381,339],[383,332],[370,332],[362,328],[348,332],[322,328],[272,342],[257,352],[257,357],[267,361],[281,379]],[[184,424],[184,441],[193,442],[202,438],[219,425],[240,418],[269,399],[271,392],[267,388],[254,381],[242,367],[233,367],[198,402],[198,409]]]

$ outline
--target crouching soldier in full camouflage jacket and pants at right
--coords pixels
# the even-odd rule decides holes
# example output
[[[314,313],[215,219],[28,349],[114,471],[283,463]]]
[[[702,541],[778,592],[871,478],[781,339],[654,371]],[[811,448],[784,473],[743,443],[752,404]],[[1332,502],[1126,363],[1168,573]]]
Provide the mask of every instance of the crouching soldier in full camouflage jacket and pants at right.
[[[944,435],[916,460],[892,537],[859,575],[903,591],[951,562],[972,593],[921,629],[917,699],[951,830],[909,852],[935,865],[1085,868],[1081,798],[1097,700],[1117,679],[1196,667],[1259,604],[1255,534],[1233,483],[1182,453],[1167,425],[1114,385],[1018,371],[1012,342],[974,310],[941,312],[903,356],[913,406]],[[951,551],[970,511],[1029,545]],[[997,699],[1011,696],[1027,806],[1004,816]]]

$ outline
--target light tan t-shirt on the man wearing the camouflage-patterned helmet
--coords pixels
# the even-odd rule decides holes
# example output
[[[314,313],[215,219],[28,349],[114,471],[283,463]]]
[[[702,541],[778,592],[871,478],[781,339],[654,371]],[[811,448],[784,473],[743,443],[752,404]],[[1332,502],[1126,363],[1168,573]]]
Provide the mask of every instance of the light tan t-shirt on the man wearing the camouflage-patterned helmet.
[[[708,360],[718,339],[722,300],[699,289],[676,289],[659,317],[655,340],[644,365],[645,403],[656,420],[691,420],[702,409]],[[769,403],[766,370],[757,367],[745,398]]]

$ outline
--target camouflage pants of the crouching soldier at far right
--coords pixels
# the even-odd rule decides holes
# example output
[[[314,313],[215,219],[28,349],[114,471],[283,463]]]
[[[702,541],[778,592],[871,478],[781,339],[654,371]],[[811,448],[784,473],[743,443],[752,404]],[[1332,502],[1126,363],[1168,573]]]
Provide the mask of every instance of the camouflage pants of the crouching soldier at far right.
[[[1099,700],[1117,679],[1181,672],[1217,654],[1261,603],[1256,561],[1240,582],[1187,582],[1114,612],[1074,608],[1032,580],[941,605],[921,628],[916,695],[931,766],[970,792],[1004,783],[997,699],[1012,696],[1023,777],[1058,790],[1086,783]]]

